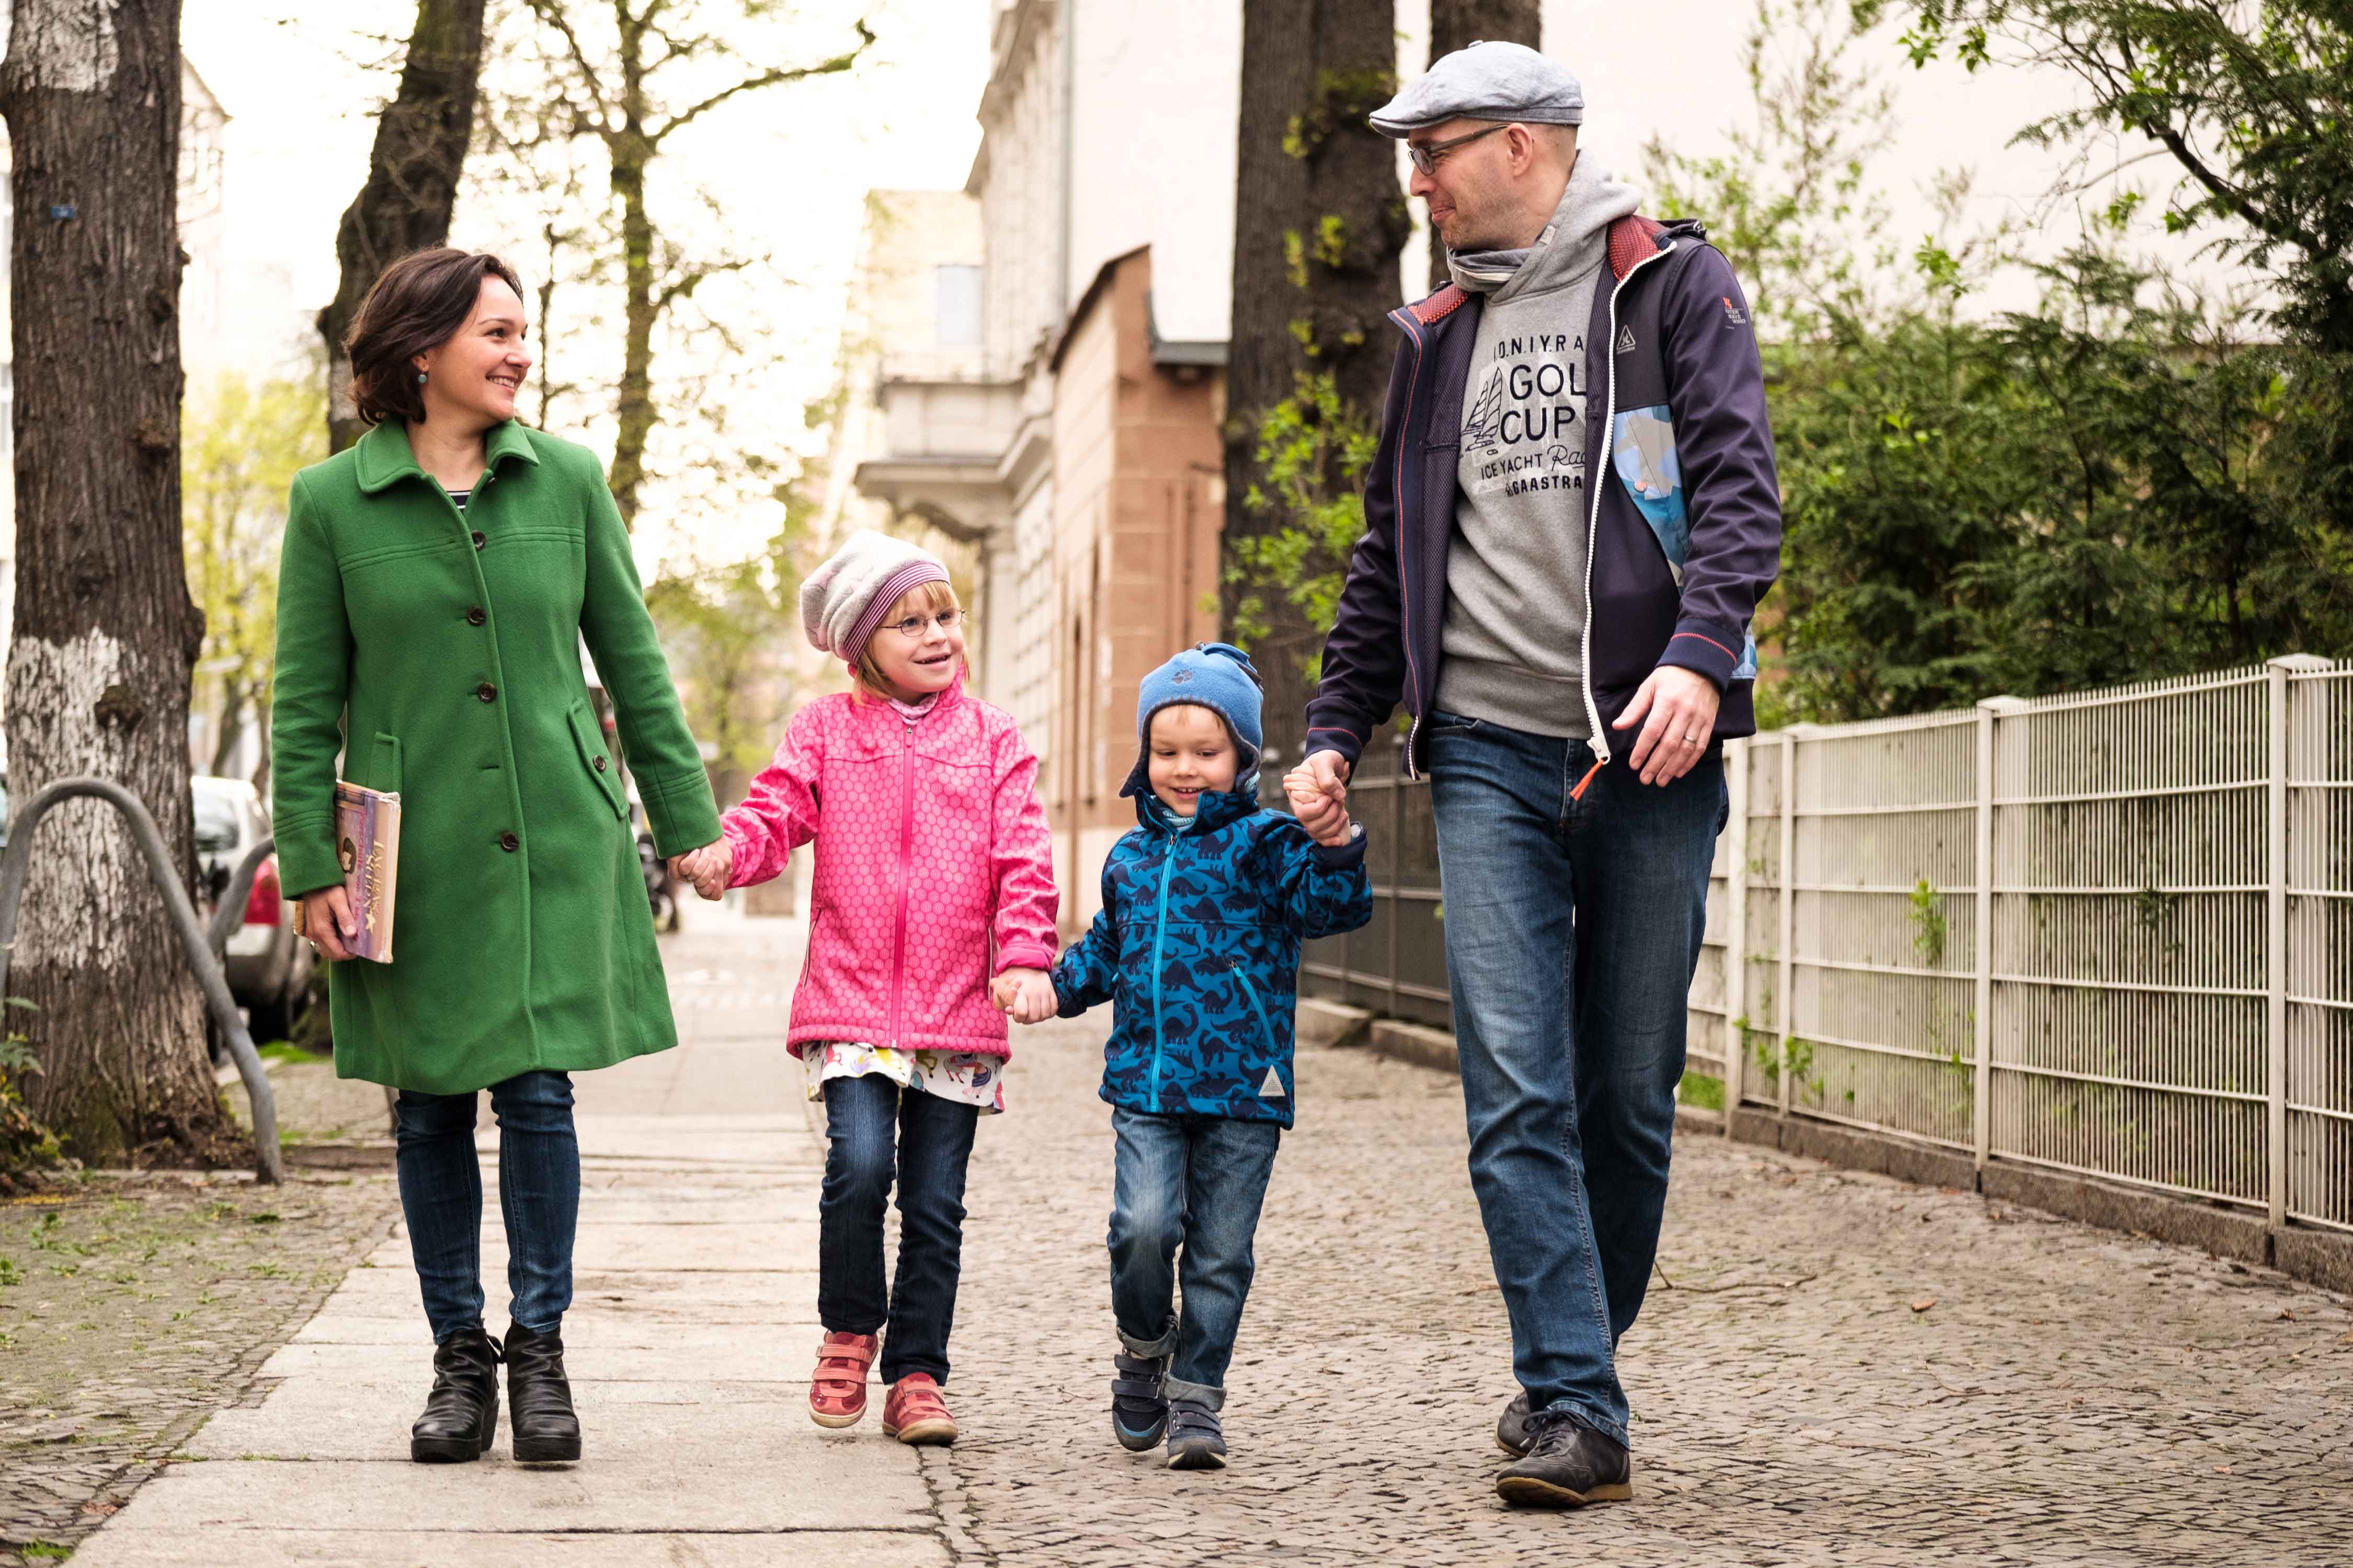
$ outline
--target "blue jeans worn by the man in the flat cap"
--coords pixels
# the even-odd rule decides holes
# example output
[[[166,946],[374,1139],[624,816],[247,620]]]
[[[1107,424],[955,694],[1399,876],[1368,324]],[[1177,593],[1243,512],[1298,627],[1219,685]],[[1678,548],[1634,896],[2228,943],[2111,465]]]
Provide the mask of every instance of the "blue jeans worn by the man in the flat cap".
[[[1722,752],[1675,783],[1433,715],[1431,809],[1471,1187],[1532,1410],[1626,1441],[1617,1342],[1659,1253]]]

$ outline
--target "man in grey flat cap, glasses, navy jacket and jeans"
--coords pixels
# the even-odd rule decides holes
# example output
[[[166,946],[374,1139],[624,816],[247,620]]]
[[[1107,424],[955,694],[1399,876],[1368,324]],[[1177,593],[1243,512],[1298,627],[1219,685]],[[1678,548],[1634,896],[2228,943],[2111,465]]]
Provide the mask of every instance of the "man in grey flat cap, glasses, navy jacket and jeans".
[[[1631,1495],[1617,1342],[1659,1248],[1722,741],[1755,733],[1748,623],[1781,555],[1732,266],[1579,158],[1584,118],[1577,78],[1508,42],[1372,115],[1454,282],[1391,317],[1365,538],[1308,703],[1332,806],[1400,703],[1431,778],[1520,1382],[1497,1490],[1539,1507]]]

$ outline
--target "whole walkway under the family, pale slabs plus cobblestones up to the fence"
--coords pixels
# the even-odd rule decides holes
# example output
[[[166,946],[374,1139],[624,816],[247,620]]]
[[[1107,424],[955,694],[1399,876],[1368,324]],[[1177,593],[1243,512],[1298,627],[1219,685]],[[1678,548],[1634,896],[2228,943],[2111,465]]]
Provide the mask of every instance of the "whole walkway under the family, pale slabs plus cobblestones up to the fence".
[[[581,1081],[588,1458],[414,1467],[407,1244],[78,1566],[2353,1566],[2353,1312],[1967,1194],[1680,1138],[1624,1347],[1635,1502],[1497,1507],[1508,1331],[1454,1079],[1299,1060],[1231,1373],[1233,1469],[1106,1420],[1106,1013],[1028,1030],[974,1154],[953,1450],[802,1413],[821,1145],[776,1044],[802,929],[687,910],[687,1044]],[[485,1128],[485,1150],[492,1145]],[[487,1166],[494,1173],[494,1161]],[[489,1206],[485,1272],[504,1326]]]

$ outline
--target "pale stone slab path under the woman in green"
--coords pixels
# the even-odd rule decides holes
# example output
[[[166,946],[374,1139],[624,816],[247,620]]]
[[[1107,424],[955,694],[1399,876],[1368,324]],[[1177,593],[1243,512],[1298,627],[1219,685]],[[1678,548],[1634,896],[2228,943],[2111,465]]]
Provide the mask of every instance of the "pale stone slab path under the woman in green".
[[[800,926],[689,910],[668,940],[685,1046],[579,1079],[581,1232],[565,1319],[576,1467],[412,1465],[431,1340],[407,1239],[362,1262],[75,1554],[89,1568],[948,1561],[913,1450],[809,1425],[821,1140],[779,1070]],[[788,1065],[788,1063],[784,1063]],[[506,1324],[482,1110],[489,1326]]]

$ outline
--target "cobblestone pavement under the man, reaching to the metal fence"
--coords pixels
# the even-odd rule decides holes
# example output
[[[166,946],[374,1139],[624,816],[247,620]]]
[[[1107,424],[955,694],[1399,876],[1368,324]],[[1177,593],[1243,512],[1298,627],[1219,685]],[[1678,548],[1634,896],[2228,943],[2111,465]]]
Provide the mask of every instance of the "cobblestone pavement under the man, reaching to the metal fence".
[[[1457,1081],[1306,1051],[1233,1469],[1108,1432],[1101,1023],[1026,1032],[972,1171],[929,1469],[967,1561],[2353,1563],[2353,1314],[2202,1253],[1685,1135],[1624,1345],[1635,1500],[1506,1512],[1511,1352]],[[1673,1281],[1668,1286],[1666,1281]]]

